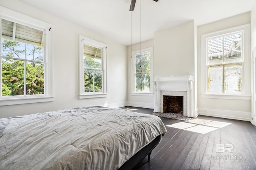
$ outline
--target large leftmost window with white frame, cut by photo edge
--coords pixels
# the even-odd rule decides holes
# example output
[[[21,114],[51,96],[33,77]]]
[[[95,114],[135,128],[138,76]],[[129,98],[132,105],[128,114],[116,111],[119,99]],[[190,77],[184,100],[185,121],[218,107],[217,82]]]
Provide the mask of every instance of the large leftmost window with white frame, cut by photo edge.
[[[53,101],[51,29],[1,7],[1,106]]]

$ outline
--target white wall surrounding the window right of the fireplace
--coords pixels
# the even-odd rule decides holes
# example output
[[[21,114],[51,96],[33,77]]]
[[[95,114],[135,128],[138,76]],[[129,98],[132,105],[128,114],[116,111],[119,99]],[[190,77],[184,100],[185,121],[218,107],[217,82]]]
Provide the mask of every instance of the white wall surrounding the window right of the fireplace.
[[[212,115],[217,117],[226,117],[233,119],[250,120],[250,100],[227,100],[202,98],[201,93],[201,35],[228,29],[239,25],[250,23],[250,12],[226,18],[206,25],[200,25],[197,29],[198,45],[198,112],[202,115]],[[203,113],[206,109],[207,114]]]

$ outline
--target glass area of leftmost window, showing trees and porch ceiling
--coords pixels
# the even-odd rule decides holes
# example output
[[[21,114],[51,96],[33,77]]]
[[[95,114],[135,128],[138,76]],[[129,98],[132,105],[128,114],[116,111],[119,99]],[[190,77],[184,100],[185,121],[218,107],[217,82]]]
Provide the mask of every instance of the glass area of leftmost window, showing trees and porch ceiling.
[[[12,21],[1,21],[2,96],[44,94],[44,32]]]

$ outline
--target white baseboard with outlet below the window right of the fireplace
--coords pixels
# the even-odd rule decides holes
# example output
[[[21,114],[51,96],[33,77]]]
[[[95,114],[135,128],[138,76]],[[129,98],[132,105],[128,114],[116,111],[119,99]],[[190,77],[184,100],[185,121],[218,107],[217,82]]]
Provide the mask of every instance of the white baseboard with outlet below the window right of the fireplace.
[[[244,111],[231,111],[231,110],[220,110],[220,109],[208,109],[198,107],[198,114],[212,117],[222,117],[227,119],[236,119],[243,121],[250,121],[251,113]]]

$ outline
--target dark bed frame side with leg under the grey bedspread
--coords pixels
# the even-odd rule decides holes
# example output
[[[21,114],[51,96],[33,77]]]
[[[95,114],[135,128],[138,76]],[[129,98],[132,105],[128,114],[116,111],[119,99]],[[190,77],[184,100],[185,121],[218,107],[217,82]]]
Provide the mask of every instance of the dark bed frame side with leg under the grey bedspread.
[[[162,134],[164,136],[164,134]],[[131,170],[138,163],[140,163],[146,156],[148,156],[148,162],[150,162],[150,154],[152,150],[158,145],[161,140],[161,135],[157,136],[152,142],[143,147],[140,151],[134,154],[129,160],[127,160],[118,170]]]

